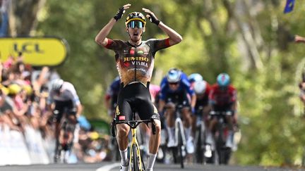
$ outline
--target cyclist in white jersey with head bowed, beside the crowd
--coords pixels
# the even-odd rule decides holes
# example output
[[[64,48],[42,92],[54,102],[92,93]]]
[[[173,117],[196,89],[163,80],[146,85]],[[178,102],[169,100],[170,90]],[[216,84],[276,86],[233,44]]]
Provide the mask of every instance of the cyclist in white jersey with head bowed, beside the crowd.
[[[54,104],[54,106],[52,106]],[[82,112],[82,105],[76,94],[76,89],[73,87],[73,84],[70,82],[64,82],[64,80],[56,79],[51,82],[51,89],[49,91],[49,96],[47,99],[47,108],[49,111],[58,111],[54,113],[54,118],[56,119],[55,124],[55,137],[56,137],[56,146],[55,146],[55,156],[54,162],[59,158],[59,151],[57,148],[59,146],[59,133],[60,133],[60,122],[64,113],[67,114],[68,119],[76,124],[76,120],[80,113]],[[73,132],[71,132],[68,143],[69,146],[72,146],[73,143]],[[74,137],[76,138],[76,137]]]

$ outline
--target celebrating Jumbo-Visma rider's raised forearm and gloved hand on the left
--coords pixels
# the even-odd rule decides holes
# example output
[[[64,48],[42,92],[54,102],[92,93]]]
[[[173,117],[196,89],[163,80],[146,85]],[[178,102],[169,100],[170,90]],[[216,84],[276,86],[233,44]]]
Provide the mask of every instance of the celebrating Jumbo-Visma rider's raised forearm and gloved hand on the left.
[[[122,17],[122,15],[125,13],[125,10],[128,9],[130,6],[131,6],[131,4],[126,4],[126,5],[122,6],[121,8],[119,8],[119,11],[117,11],[114,18],[109,20],[107,25],[105,25],[102,28],[102,30],[100,30],[100,32],[95,37],[95,42],[97,42],[97,44],[100,44],[101,46],[107,45],[107,43],[108,43],[107,35],[112,30],[112,27],[114,26],[116,21],[118,21]]]

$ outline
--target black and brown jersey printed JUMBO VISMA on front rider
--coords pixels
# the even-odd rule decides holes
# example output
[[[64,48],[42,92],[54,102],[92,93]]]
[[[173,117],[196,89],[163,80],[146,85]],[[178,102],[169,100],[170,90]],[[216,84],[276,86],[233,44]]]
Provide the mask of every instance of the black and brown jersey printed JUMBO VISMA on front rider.
[[[150,82],[155,63],[155,53],[169,47],[169,39],[149,39],[138,46],[129,42],[108,39],[107,49],[116,54],[116,68],[124,86],[131,82]]]

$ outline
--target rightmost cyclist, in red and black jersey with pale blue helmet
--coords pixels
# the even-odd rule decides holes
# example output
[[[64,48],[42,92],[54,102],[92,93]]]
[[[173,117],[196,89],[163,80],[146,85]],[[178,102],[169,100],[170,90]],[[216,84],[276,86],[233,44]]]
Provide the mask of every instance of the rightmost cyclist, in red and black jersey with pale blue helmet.
[[[209,96],[210,105],[215,112],[226,112],[232,115],[225,115],[225,121],[229,125],[229,136],[225,146],[233,146],[233,124],[237,122],[237,91],[230,84],[230,77],[226,73],[217,76],[217,83],[213,85]],[[210,118],[209,131],[212,132],[217,123],[217,117]],[[208,134],[207,144],[213,144],[213,137]]]

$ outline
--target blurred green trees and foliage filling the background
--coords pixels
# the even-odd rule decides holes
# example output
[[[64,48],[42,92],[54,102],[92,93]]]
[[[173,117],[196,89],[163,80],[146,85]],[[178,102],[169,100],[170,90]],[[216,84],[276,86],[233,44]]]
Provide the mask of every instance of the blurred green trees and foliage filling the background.
[[[132,6],[126,13],[149,8],[183,36],[181,44],[157,52],[157,70],[165,73],[177,67],[187,74],[199,72],[211,84],[220,72],[228,72],[232,77],[238,90],[242,132],[241,144],[234,153],[237,164],[299,164],[304,153],[305,127],[297,97],[300,80],[295,74],[300,73],[297,68],[304,67],[300,61],[305,51],[304,44],[289,43],[285,36],[305,36],[305,23],[301,22],[304,9],[298,4],[292,13],[284,15],[280,1],[259,1],[261,8],[251,5],[256,8],[256,15],[238,18],[239,15],[230,15],[225,2],[237,12],[238,1],[136,0],[130,2]],[[95,35],[124,4],[126,1],[52,0],[47,1],[40,15],[37,32],[62,37],[71,47],[68,60],[58,70],[65,80],[75,84],[89,118],[107,118],[103,96],[117,75],[114,53],[97,46]],[[252,37],[262,38],[261,44],[250,46],[257,49],[256,60],[263,63],[262,68],[251,67],[253,61],[247,55],[244,30],[237,21],[249,28]],[[256,24],[258,27],[254,27]],[[124,27],[123,17],[109,37],[128,39]],[[152,37],[167,35],[148,22],[143,39]],[[160,79],[155,80],[158,82]]]

